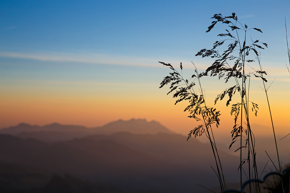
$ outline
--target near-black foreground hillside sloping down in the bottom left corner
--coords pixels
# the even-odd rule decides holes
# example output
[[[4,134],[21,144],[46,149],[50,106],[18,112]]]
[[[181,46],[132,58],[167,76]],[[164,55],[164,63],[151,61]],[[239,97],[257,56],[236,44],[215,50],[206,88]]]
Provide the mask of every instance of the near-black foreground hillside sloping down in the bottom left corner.
[[[24,165],[0,163],[1,193],[121,193],[113,186],[77,179],[70,175],[52,175]]]

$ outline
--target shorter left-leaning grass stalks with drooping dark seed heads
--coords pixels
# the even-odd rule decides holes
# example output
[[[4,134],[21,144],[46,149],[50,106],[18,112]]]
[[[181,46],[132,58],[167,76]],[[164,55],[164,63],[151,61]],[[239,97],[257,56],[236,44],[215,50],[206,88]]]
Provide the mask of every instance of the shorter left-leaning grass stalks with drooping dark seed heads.
[[[224,174],[222,171],[222,164],[220,162],[220,157],[218,155],[218,150],[215,144],[215,139],[212,130],[212,124],[215,124],[218,128],[220,124],[220,111],[216,111],[216,109],[206,106],[206,100],[204,95],[204,89],[201,86],[200,78],[203,74],[199,74],[197,68],[195,67],[194,63],[193,66],[195,67],[195,74],[191,76],[189,80],[184,79],[182,75],[182,63],[180,63],[181,74],[170,64],[170,63],[163,63],[159,62],[165,66],[168,66],[173,72],[169,73],[170,76],[166,76],[162,82],[160,83],[160,87],[164,87],[166,84],[170,84],[171,89],[167,94],[175,91],[173,94],[173,98],[179,98],[176,100],[175,104],[181,102],[183,100],[188,100],[189,105],[184,109],[184,111],[190,112],[190,118],[194,118],[196,121],[202,122],[202,124],[195,127],[193,130],[190,131],[188,134],[187,140],[191,138],[192,135],[194,137],[201,136],[204,132],[206,137],[209,139],[211,143],[211,148],[213,151],[213,155],[215,158],[215,163],[217,167],[217,176],[220,183],[221,191],[224,192],[226,190],[226,182],[224,179]],[[193,80],[191,80],[193,79]],[[200,87],[200,94],[197,94],[193,87],[195,86],[195,81]],[[180,83],[183,84],[180,84]]]

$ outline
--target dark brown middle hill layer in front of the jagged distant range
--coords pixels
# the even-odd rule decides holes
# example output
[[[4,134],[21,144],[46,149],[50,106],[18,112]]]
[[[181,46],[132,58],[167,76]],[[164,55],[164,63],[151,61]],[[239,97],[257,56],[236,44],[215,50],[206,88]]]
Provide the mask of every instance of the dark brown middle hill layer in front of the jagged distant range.
[[[209,179],[215,181],[213,171],[205,163],[204,168],[200,168],[200,165],[188,167],[188,164],[171,160],[169,155],[162,159],[154,156],[162,146],[168,152],[162,143],[157,151],[149,154],[150,151],[140,151],[110,139],[95,137],[47,143],[0,135],[0,160],[41,168],[58,175],[68,173],[126,191],[178,192],[182,188],[194,190],[192,182],[202,184]],[[162,134],[160,137],[166,138]],[[176,152],[172,152],[172,157],[176,156]],[[210,152],[208,156],[212,157]],[[211,161],[208,163],[211,164]]]

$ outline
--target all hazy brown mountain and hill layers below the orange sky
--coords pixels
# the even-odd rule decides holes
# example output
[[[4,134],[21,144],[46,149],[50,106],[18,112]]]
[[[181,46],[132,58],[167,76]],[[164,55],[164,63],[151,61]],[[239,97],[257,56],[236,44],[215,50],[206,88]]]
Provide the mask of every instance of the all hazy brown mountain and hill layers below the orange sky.
[[[210,144],[196,138],[186,141],[186,136],[173,133],[155,121],[118,120],[95,128],[19,124],[3,128],[0,133],[0,161],[24,168],[9,172],[13,167],[1,170],[0,164],[0,172],[5,171],[0,173],[0,188],[1,184],[13,183],[25,188],[23,179],[35,181],[38,175],[42,180],[28,184],[26,190],[31,187],[49,189],[53,184],[50,183],[52,174],[58,176],[54,176],[54,180],[59,183],[70,184],[76,177],[86,181],[79,182],[83,186],[89,182],[102,183],[123,192],[180,192],[184,189],[200,192],[204,188],[196,184],[206,188],[218,186],[211,168],[216,167]],[[219,155],[227,184],[237,182],[239,157],[221,149]],[[32,171],[28,168],[41,172],[27,173]],[[9,182],[8,179],[13,179],[7,179],[9,174],[18,180]],[[1,179],[6,179],[7,183],[5,180],[1,183]],[[87,185],[95,187],[93,184]]]

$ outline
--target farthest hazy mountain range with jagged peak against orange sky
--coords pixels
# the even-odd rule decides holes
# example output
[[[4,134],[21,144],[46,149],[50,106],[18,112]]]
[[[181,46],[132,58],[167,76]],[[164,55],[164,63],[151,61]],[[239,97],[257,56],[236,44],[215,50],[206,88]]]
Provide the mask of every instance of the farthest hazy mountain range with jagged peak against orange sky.
[[[52,123],[45,126],[20,123],[17,126],[0,129],[0,134],[9,134],[23,139],[39,139],[55,142],[81,138],[93,134],[110,135],[116,132],[130,132],[138,134],[173,133],[159,122],[147,122],[145,119],[118,120],[101,127],[87,128],[85,126],[61,125]]]

